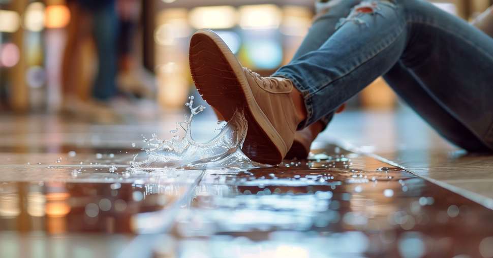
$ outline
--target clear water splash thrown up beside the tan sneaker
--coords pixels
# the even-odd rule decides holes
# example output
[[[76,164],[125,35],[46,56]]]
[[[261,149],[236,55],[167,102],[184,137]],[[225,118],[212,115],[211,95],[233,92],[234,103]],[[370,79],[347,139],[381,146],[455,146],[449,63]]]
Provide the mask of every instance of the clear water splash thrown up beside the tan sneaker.
[[[196,142],[192,138],[191,125],[195,115],[205,107],[193,106],[194,97],[189,97],[185,104],[190,109],[190,116],[184,122],[178,122],[177,128],[171,130],[170,140],[161,140],[156,134],[150,139],[144,138],[148,148],[143,149],[147,159],[134,162],[129,170],[162,170],[162,169],[246,169],[259,168],[265,165],[255,163],[241,152],[241,145],[248,128],[243,112],[235,112],[232,119],[222,128],[221,132],[207,143]],[[184,136],[180,137],[180,129]]]

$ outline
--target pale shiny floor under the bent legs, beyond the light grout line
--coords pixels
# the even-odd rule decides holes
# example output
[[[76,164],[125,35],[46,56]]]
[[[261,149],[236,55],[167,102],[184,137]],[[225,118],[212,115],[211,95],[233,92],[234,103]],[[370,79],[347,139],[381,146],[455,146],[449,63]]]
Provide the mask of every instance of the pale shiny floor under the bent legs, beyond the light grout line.
[[[493,209],[493,155],[450,145],[411,110],[343,113],[329,126],[318,138],[322,145],[376,154]]]

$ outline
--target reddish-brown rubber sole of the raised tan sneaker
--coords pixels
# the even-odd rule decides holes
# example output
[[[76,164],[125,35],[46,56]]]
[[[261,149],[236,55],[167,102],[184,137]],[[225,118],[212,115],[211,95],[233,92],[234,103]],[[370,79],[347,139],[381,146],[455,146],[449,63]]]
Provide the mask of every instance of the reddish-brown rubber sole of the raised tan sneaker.
[[[257,104],[240,63],[211,30],[199,30],[190,42],[190,70],[202,98],[229,121],[243,110],[248,132],[243,153],[255,162],[276,165],[286,144]]]

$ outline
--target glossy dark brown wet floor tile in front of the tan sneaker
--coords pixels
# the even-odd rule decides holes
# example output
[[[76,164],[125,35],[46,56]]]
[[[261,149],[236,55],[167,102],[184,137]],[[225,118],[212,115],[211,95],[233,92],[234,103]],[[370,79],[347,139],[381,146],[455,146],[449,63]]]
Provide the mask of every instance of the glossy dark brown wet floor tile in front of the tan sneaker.
[[[480,257],[491,251],[485,247],[493,234],[491,210],[387,164],[354,169],[368,158],[324,151],[334,158],[207,173],[192,207],[178,217],[174,245],[158,248],[158,256]]]

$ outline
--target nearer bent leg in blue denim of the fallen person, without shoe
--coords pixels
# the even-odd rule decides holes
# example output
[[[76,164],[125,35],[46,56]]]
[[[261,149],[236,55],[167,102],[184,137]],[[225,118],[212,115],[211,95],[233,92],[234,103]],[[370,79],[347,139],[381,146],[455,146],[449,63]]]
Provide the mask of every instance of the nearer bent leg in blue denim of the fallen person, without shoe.
[[[440,106],[493,147],[490,53],[493,40],[429,3],[364,1],[320,49],[274,76],[302,92],[308,125],[402,60]]]

